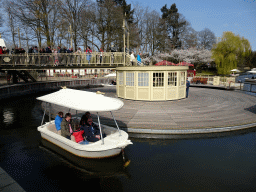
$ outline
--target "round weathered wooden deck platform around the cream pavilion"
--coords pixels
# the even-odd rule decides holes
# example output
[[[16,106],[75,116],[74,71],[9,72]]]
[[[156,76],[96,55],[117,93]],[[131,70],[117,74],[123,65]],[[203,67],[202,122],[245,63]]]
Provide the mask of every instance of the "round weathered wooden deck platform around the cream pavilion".
[[[89,90],[117,97],[115,87]],[[223,128],[232,130],[256,126],[256,97],[243,91],[190,87],[187,99],[160,102],[122,100],[124,107],[113,114],[120,128],[128,132],[195,133],[198,130],[221,131]],[[55,107],[54,113],[58,111],[66,113],[68,110]],[[71,112],[75,114],[75,111]],[[96,115],[92,114],[96,121]],[[102,124],[115,127],[110,113],[99,114]]]

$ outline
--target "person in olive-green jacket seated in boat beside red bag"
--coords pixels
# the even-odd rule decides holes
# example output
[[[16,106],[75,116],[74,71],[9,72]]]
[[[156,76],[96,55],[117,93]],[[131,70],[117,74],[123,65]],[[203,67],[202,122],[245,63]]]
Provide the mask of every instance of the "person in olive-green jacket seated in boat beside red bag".
[[[65,118],[62,120],[61,127],[61,135],[66,137],[67,139],[71,139],[70,136],[73,133],[74,123],[72,121],[72,115],[70,113],[66,113]]]

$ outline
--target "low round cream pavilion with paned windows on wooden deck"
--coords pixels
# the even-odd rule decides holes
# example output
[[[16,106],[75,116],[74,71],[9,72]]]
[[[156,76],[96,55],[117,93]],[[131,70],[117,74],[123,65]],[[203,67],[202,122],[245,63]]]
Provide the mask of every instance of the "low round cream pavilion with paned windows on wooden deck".
[[[118,67],[117,96],[149,101],[185,98],[187,69],[187,66]]]

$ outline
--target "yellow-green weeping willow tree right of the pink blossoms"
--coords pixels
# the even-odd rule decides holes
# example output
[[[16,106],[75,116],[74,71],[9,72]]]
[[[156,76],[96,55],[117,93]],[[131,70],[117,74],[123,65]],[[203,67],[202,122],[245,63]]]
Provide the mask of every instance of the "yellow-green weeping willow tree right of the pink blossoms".
[[[245,58],[251,54],[251,46],[247,39],[232,32],[224,32],[221,41],[213,45],[212,57],[215,59],[219,74],[226,75],[230,70],[242,67]]]

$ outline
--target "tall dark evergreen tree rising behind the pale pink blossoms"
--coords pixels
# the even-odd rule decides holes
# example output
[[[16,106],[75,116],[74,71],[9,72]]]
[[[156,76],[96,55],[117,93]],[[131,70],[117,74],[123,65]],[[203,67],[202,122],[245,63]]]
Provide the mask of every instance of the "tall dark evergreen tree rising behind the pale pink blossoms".
[[[184,31],[184,26],[187,24],[186,20],[178,13],[175,3],[171,5],[170,9],[167,8],[167,5],[163,6],[161,12],[171,39],[172,48],[181,48],[180,34]]]

